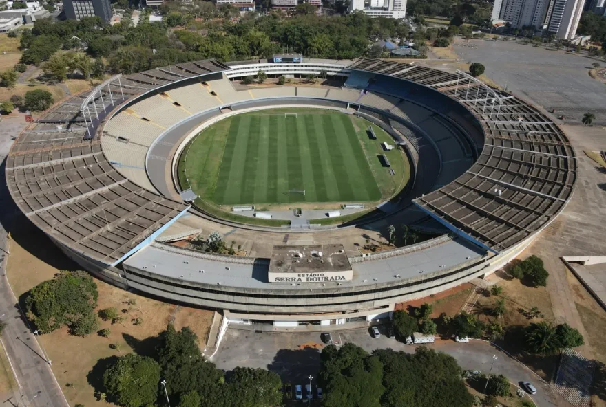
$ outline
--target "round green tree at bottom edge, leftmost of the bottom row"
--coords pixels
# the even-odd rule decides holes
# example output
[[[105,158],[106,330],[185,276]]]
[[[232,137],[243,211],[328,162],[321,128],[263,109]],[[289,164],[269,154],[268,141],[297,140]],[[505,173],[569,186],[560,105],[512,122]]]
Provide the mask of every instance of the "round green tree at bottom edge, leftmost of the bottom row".
[[[147,356],[134,353],[118,358],[103,373],[107,395],[125,407],[154,404],[158,397],[160,365]]]

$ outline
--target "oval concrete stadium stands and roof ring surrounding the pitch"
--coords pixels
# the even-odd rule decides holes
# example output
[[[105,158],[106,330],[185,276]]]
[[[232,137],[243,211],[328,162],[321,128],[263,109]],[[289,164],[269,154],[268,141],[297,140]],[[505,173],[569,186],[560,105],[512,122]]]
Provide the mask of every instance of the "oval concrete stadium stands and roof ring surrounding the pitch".
[[[324,72],[341,85],[238,89],[255,75]],[[409,188],[342,228],[233,223],[180,199],[175,163],[200,129],[251,109],[353,111],[390,133],[413,165]],[[28,126],[6,162],[19,209],[67,256],[124,288],[203,307],[226,320],[341,324],[485,276],[514,259],[572,196],[576,159],[547,116],[462,72],[362,58],[269,63],[196,61],[117,76],[60,102]],[[362,256],[345,248],[347,281],[270,283],[271,248],[289,234],[342,243],[364,230],[433,219],[435,239]],[[264,247],[254,256],[167,243],[228,225]],[[286,236],[285,236],[286,234]]]

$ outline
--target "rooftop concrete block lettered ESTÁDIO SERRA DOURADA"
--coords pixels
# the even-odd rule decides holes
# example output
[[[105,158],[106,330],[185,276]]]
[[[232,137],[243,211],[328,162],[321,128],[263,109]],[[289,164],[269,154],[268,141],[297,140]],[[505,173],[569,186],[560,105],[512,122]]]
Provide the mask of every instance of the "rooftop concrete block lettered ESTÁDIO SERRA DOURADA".
[[[343,245],[273,246],[269,283],[340,283],[352,278]]]

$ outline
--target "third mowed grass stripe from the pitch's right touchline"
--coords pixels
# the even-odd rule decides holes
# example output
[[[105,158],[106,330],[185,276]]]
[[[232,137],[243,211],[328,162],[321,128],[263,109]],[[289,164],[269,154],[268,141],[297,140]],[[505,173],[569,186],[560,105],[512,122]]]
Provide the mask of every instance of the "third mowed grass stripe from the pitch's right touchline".
[[[311,135],[309,137],[312,159],[314,160],[314,166],[317,168],[315,177],[316,182],[320,186],[324,185],[324,191],[326,197],[325,202],[339,201],[341,199],[339,195],[339,184],[333,171],[333,163],[331,160],[331,151],[328,149],[328,143],[326,142],[326,133],[324,133],[324,126],[322,120],[317,120],[313,115],[308,116],[309,129],[311,129]],[[319,174],[318,174],[319,173]],[[320,186],[317,188],[320,190]]]

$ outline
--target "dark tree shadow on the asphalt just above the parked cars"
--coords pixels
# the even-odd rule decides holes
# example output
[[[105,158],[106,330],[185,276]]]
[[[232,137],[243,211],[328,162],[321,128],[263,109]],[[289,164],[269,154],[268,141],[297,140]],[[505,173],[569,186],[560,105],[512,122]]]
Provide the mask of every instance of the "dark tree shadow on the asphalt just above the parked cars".
[[[267,370],[276,373],[282,382],[304,385],[309,382],[309,375],[317,376],[320,370],[320,349],[306,347],[303,349],[280,349],[275,354]]]

